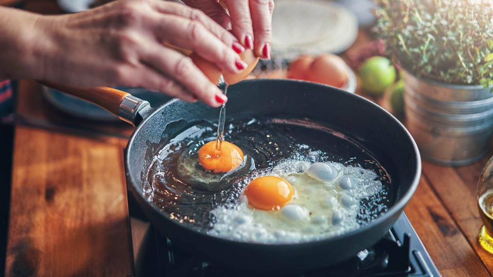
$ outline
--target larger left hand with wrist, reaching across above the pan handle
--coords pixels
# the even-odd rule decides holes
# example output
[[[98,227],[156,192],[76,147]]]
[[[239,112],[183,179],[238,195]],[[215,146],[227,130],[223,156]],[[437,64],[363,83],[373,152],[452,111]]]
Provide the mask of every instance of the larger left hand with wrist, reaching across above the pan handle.
[[[213,107],[225,96],[189,57],[164,44],[193,50],[232,73],[246,67],[238,56],[244,48],[233,34],[202,11],[161,0],[122,0],[60,16],[2,8],[0,32],[12,36],[3,43],[10,39],[15,51],[22,50],[13,58],[12,52],[0,53],[0,63],[16,63],[14,70],[0,69],[0,76],[145,87]]]

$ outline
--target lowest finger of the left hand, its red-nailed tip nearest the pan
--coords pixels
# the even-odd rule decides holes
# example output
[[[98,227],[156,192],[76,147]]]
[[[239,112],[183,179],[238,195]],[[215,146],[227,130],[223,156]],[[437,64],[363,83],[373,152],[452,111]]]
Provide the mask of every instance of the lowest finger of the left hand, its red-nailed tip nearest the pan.
[[[226,98],[222,92],[198,69],[191,58],[159,44],[149,46],[142,53],[145,64],[173,78],[186,91],[211,107],[219,107]]]

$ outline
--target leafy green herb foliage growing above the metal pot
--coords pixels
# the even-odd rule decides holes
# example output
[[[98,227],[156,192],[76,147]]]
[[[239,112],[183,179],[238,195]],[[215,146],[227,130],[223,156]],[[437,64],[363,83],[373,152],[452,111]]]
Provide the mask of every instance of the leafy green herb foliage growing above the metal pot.
[[[493,86],[493,1],[376,2],[379,34],[406,71],[447,84]]]

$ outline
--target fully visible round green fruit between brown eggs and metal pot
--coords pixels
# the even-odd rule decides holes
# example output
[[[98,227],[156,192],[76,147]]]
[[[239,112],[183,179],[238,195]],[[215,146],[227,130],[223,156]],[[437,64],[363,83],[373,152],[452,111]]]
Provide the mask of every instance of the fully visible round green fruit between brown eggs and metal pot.
[[[383,94],[394,83],[396,74],[392,62],[381,56],[368,58],[358,71],[363,91],[373,96]]]

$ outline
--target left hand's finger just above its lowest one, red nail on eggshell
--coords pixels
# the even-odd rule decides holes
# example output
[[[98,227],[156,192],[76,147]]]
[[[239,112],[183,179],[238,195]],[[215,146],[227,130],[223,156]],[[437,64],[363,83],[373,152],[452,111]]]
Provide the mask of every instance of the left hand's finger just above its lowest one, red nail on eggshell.
[[[171,45],[190,49],[220,69],[238,73],[247,64],[201,23],[175,15],[157,16],[153,26],[158,39]]]

